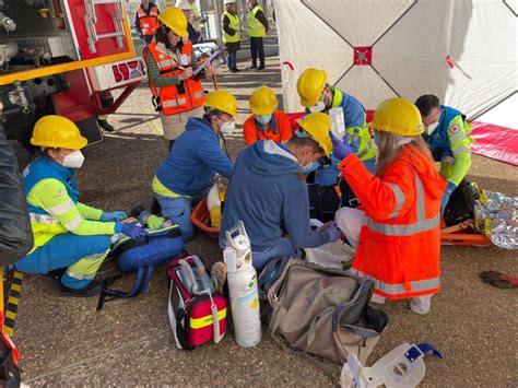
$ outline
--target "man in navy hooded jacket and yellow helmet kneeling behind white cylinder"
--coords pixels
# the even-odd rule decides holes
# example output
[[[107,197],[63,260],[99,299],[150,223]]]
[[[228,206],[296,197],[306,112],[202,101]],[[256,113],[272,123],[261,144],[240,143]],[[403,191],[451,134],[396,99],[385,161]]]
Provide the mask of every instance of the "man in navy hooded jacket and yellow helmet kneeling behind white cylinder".
[[[329,116],[310,114],[298,125],[301,129],[286,143],[259,140],[246,148],[228,185],[220,247],[225,248],[225,232],[243,221],[257,270],[275,257],[301,257],[299,248],[337,242],[341,235],[334,222],[322,231],[309,225],[305,172],[331,153]],[[287,237],[283,237],[283,226]]]

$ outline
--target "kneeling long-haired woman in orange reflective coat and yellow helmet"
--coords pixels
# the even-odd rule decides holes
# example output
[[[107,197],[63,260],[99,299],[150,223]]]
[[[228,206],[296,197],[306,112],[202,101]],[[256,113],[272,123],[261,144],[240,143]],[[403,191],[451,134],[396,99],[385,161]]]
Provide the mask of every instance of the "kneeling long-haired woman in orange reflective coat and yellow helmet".
[[[378,145],[375,174],[346,137],[332,134],[333,154],[362,210],[342,208],[337,224],[356,250],[352,272],[374,281],[373,302],[411,298],[416,314],[429,310],[439,291],[440,201],[446,180],[422,139],[417,108],[404,98],[381,103],[369,125]]]

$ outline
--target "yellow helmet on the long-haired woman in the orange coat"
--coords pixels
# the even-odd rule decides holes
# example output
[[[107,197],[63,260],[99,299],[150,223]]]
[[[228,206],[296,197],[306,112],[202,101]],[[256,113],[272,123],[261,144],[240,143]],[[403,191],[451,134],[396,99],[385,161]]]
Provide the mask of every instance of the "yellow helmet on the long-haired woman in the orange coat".
[[[368,128],[401,136],[417,136],[424,131],[417,107],[401,97],[389,98],[379,104]]]

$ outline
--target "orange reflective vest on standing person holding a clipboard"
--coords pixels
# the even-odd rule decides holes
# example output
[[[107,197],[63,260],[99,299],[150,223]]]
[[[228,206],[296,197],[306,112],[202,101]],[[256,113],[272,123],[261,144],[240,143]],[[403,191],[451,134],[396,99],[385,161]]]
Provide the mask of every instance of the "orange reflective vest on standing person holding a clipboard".
[[[192,43],[188,40],[184,44],[180,52],[180,62],[166,54],[166,50],[157,48],[156,43],[148,45],[148,50],[144,50],[144,58],[148,61],[148,52],[151,52],[154,61],[158,66],[162,77],[180,75],[183,68],[191,66]],[[152,80],[149,81],[151,93],[158,104],[158,110],[164,115],[176,115],[183,111],[189,111],[203,105],[205,102],[205,93],[201,81],[187,79],[181,81],[179,85],[170,85],[164,87],[156,87]]]

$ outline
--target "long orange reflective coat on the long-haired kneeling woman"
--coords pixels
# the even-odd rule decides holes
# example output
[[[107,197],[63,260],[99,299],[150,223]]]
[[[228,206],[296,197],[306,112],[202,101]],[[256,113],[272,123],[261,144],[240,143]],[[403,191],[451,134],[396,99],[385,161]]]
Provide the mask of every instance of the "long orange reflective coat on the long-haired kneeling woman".
[[[352,271],[398,299],[439,291],[440,200],[446,180],[414,146],[379,177],[348,155],[339,168],[365,211]]]

